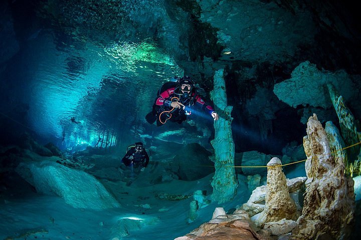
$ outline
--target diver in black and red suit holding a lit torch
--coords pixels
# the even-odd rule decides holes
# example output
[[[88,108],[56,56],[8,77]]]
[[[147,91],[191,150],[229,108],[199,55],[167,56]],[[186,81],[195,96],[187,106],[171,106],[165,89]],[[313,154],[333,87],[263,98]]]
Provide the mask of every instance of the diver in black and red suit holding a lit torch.
[[[145,118],[157,126],[163,125],[167,120],[182,123],[187,116],[192,114],[192,109],[199,108],[218,120],[218,113],[207,104],[200,95],[190,76],[174,77],[174,81],[164,83],[158,91],[158,97],[153,104],[153,110]]]

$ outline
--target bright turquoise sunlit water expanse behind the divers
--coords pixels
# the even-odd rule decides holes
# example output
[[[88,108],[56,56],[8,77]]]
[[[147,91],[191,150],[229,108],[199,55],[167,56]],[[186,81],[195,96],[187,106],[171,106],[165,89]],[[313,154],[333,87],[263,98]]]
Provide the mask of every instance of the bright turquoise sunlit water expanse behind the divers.
[[[159,86],[183,74],[166,52],[161,54],[165,58],[160,60],[166,62],[153,62],[134,42],[59,47],[51,31],[41,31],[9,66],[14,72],[8,72],[5,80],[14,85],[9,83],[4,91],[16,99],[3,102],[0,111],[61,149],[95,145],[99,136],[107,135],[114,144],[116,137],[126,139],[134,128],[144,129],[144,116]],[[18,102],[27,104],[25,119],[9,110],[18,109]],[[80,123],[71,122],[72,116]]]

